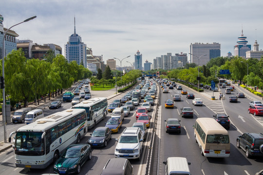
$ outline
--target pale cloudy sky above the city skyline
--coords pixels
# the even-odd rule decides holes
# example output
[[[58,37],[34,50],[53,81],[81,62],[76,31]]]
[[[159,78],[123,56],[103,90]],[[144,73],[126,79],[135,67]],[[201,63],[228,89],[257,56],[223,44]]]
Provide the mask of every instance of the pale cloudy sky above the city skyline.
[[[0,14],[34,43],[62,48],[76,33],[103,60],[131,57],[139,50],[143,63],[167,53],[189,53],[191,43],[221,44],[221,56],[234,53],[242,29],[248,44],[263,49],[263,0],[2,0]],[[189,54],[188,54],[189,59]],[[120,61],[116,60],[120,66]]]

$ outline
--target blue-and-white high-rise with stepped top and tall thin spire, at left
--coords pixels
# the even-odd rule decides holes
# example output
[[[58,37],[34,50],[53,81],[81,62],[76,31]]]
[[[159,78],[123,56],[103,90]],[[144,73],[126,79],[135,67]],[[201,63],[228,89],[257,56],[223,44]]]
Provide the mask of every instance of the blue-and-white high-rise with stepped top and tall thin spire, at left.
[[[64,45],[65,57],[68,62],[76,61],[78,65],[83,64],[87,68],[87,46],[81,42],[81,37],[76,34],[74,18],[74,34],[69,36],[69,41]]]

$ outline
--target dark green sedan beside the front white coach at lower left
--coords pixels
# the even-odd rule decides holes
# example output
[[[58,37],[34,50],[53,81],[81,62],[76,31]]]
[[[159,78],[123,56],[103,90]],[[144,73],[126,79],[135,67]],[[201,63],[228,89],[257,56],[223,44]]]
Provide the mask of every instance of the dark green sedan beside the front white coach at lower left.
[[[92,158],[92,150],[89,144],[69,145],[54,164],[56,174],[78,174],[86,160]]]

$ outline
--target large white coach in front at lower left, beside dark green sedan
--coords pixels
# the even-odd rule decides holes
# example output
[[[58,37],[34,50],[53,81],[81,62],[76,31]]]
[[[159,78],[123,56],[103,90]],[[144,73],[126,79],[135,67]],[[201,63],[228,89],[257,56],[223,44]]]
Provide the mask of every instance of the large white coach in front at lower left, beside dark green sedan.
[[[27,124],[15,136],[15,163],[20,168],[44,169],[70,144],[79,143],[87,129],[84,109],[67,109]]]

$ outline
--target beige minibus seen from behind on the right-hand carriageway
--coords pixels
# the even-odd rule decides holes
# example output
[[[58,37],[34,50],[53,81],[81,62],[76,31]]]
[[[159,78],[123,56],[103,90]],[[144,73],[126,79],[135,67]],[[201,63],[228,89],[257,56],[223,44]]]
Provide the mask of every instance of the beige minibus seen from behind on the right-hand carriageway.
[[[229,157],[230,140],[226,129],[212,118],[196,119],[194,137],[205,157]]]

